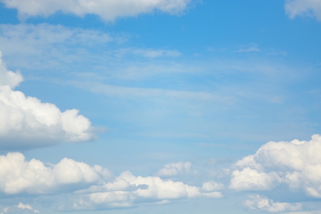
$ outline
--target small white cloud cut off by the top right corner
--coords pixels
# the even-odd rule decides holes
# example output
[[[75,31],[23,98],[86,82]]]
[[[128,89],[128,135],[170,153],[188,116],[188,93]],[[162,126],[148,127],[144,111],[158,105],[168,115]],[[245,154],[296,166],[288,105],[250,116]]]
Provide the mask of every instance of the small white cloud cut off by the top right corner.
[[[294,18],[300,16],[315,16],[321,22],[320,0],[287,0],[285,4],[286,13]]]

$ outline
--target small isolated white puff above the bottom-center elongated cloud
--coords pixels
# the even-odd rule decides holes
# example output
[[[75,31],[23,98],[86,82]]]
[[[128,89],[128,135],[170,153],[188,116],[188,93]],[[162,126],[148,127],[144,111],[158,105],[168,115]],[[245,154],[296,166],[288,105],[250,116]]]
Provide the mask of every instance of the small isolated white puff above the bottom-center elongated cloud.
[[[171,163],[171,164],[166,164],[164,168],[159,169],[158,172],[156,173],[157,176],[159,177],[175,177],[178,176],[180,173],[188,172],[191,168],[191,163],[190,162],[178,162],[178,163]]]

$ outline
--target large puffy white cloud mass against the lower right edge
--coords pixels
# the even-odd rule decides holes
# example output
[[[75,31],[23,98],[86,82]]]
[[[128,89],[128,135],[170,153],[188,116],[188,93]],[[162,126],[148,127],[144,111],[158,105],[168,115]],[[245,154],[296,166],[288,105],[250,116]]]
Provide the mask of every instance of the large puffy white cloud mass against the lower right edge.
[[[321,198],[321,135],[310,141],[268,142],[236,162],[229,188],[266,190],[283,183]]]

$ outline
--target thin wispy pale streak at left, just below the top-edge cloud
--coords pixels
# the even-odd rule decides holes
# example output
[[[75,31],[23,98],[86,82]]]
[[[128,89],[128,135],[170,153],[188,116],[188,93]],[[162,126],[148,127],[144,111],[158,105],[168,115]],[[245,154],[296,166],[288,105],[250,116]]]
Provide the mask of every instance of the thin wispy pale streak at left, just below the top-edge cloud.
[[[45,46],[59,43],[77,44],[77,45],[95,45],[100,43],[108,43],[111,41],[121,42],[121,38],[113,37],[108,33],[104,33],[98,30],[82,29],[76,27],[66,27],[62,25],[50,25],[47,23],[41,23],[37,25],[33,24],[1,24],[2,40],[1,42],[10,42],[13,46],[12,51],[17,51],[16,48],[30,49],[32,46]],[[28,42],[29,44],[23,44]],[[6,44],[3,44],[6,46]],[[34,52],[32,49],[31,52]],[[26,53],[30,54],[30,53]]]

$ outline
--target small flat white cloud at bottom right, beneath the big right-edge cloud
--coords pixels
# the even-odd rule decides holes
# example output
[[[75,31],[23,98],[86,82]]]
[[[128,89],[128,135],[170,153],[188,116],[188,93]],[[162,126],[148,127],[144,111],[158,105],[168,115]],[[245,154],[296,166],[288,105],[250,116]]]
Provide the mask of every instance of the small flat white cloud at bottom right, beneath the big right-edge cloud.
[[[245,205],[250,209],[258,209],[268,212],[296,211],[302,209],[302,204],[274,202],[273,200],[259,196],[258,194],[250,196],[250,199],[245,202]]]

